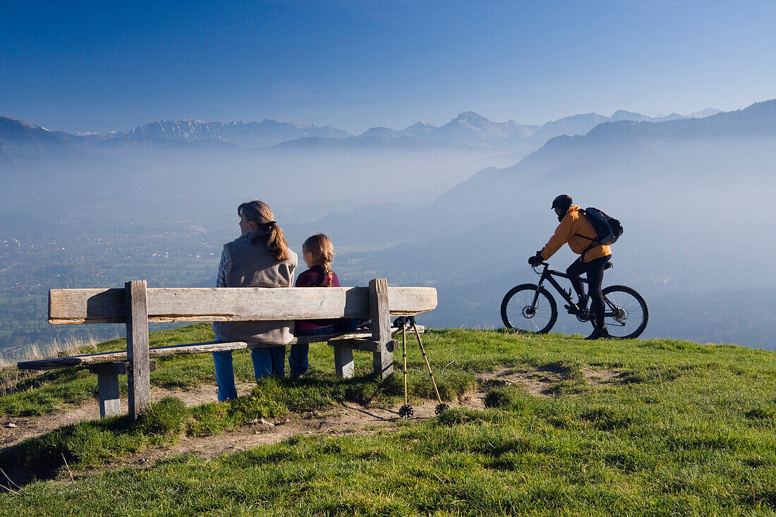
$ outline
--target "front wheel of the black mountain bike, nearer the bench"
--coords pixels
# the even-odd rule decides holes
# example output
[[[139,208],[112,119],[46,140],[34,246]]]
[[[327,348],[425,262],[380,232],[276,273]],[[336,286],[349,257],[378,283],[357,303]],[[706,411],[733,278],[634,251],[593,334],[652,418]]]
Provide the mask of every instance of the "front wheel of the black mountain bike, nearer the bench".
[[[501,301],[501,321],[507,328],[546,334],[557,319],[555,298],[535,283],[512,287]]]

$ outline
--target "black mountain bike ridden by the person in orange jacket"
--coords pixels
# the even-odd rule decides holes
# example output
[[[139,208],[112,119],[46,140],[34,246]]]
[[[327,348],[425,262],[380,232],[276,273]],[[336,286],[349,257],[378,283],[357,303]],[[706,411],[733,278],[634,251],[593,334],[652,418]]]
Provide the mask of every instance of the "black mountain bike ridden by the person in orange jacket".
[[[543,266],[542,272],[537,271],[540,266]],[[605,269],[610,267],[611,263]],[[558,306],[553,295],[542,286],[545,280],[568,302],[569,314],[576,316],[579,321],[590,321],[594,324],[594,312],[586,307],[577,307],[571,298],[571,289],[566,292],[553,278],[559,276],[570,279],[569,275],[551,269],[547,262],[532,266],[532,269],[540,276],[539,283],[514,286],[501,301],[501,320],[507,328],[534,334],[546,334],[553,328],[558,319]],[[581,280],[587,283],[587,279]],[[628,286],[608,286],[603,289],[603,293],[604,323],[609,334],[618,339],[639,337],[650,320],[650,309],[646,306],[644,297]]]

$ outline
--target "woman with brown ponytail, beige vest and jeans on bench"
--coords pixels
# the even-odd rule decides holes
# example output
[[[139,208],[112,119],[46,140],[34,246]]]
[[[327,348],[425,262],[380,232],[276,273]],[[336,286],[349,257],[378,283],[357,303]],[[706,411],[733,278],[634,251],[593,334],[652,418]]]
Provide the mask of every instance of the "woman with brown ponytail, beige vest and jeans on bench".
[[[296,253],[289,250],[283,231],[266,203],[251,201],[237,207],[241,235],[223,245],[217,287],[290,287]],[[251,349],[256,378],[283,375],[286,344],[293,340],[293,321],[217,321],[216,338],[224,342],[247,341],[272,346]],[[232,352],[213,352],[218,400],[237,397]]]

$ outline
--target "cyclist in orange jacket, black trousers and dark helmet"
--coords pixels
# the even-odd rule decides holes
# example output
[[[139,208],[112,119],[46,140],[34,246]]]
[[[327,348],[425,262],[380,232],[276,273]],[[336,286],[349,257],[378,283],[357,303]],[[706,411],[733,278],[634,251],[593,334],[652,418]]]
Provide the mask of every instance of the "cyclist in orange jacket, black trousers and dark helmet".
[[[558,215],[560,224],[544,248],[536,252],[535,256],[528,258],[528,264],[541,264],[568,242],[571,251],[580,254],[580,258],[566,269],[579,301],[576,305],[565,307],[570,313],[579,314],[585,311],[587,300],[591,300],[591,310],[595,313],[595,328],[585,339],[610,338],[604,324],[604,294],[601,293],[601,283],[604,281],[604,269],[611,260],[611,248],[595,241],[596,233],[593,225],[582,216],[580,207],[572,204],[570,196],[565,194],[557,196],[553,200],[553,210]],[[590,286],[587,295],[584,293],[584,283],[580,279],[582,273],[587,273],[587,283]]]

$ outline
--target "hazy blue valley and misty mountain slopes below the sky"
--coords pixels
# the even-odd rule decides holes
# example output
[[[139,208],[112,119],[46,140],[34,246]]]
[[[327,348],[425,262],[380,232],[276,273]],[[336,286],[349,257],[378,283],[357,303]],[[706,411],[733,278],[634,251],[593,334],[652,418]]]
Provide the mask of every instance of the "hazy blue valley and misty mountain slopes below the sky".
[[[435,286],[438,309],[422,323],[501,327],[501,297],[535,281],[526,259],[554,231],[559,193],[622,221],[605,285],[644,294],[643,337],[776,347],[776,100],[539,125],[464,112],[440,127],[362,134],[276,120],[104,134],[35,123],[0,118],[6,352],[57,336],[45,324],[48,289],[213,285],[249,199],[272,206],[296,252],[328,234],[343,285]],[[550,260],[572,261],[567,248]],[[561,314],[555,330],[589,329]]]

